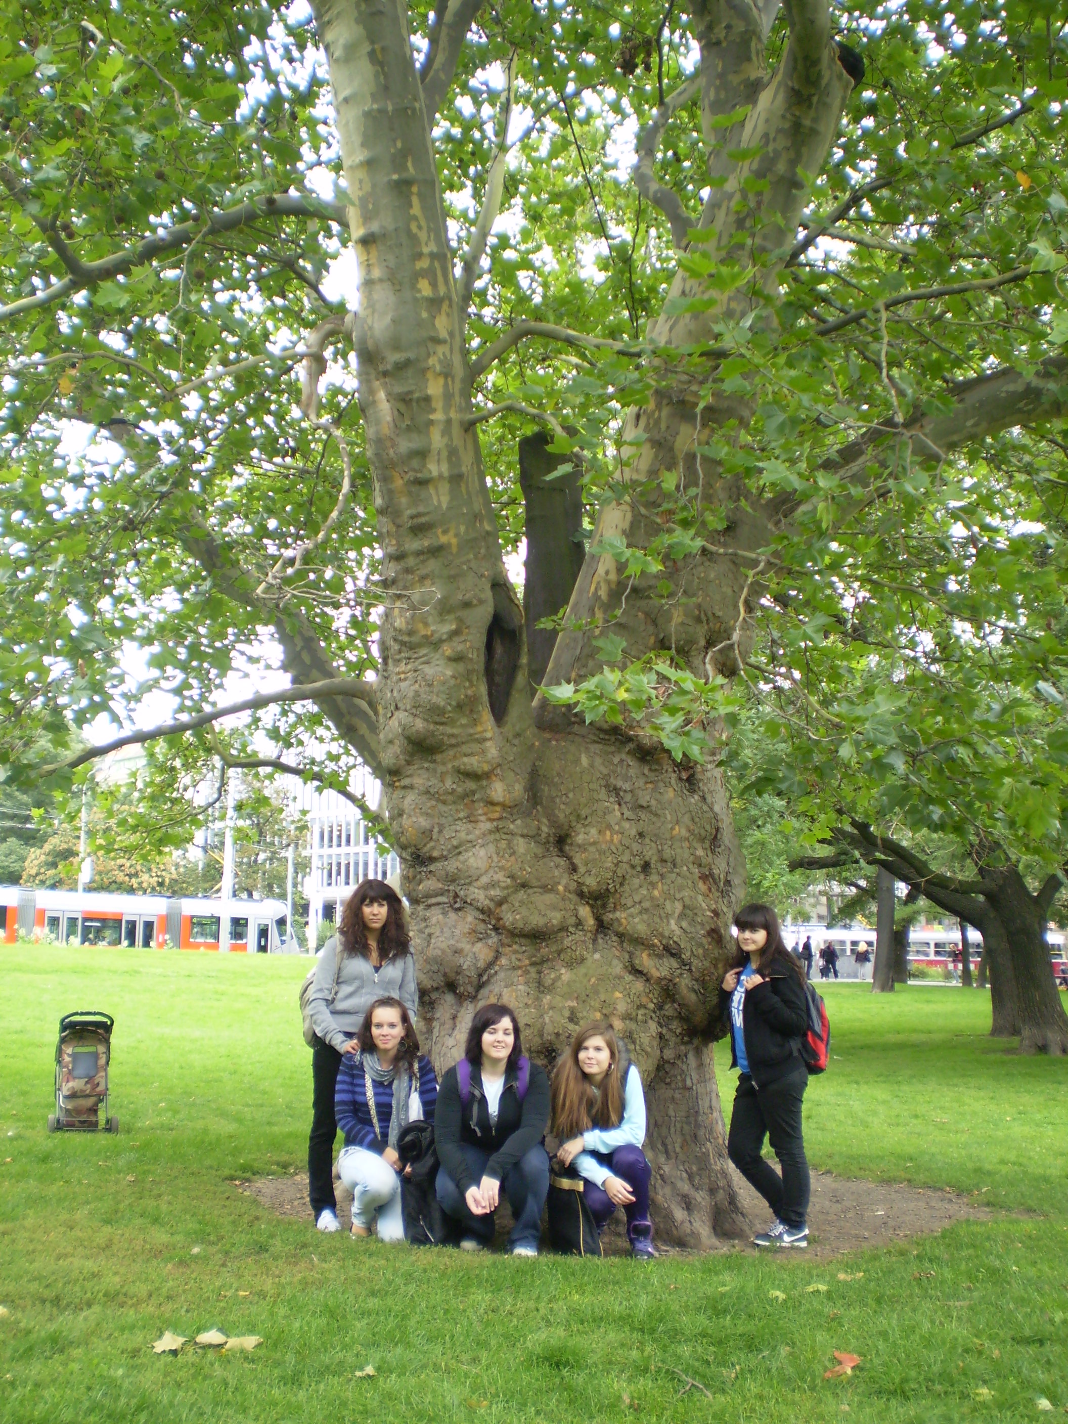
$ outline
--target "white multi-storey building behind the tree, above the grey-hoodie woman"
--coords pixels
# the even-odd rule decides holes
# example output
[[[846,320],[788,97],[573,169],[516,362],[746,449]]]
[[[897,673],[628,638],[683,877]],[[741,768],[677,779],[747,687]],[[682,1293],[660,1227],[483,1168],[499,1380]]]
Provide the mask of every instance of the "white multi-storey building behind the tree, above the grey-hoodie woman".
[[[357,773],[352,792],[375,810],[382,787],[370,772]],[[315,947],[319,926],[337,921],[345,901],[360,880],[389,880],[400,874],[394,852],[383,846],[357,806],[333,790],[295,783],[296,807],[308,816],[310,869],[308,894],[308,938]]]

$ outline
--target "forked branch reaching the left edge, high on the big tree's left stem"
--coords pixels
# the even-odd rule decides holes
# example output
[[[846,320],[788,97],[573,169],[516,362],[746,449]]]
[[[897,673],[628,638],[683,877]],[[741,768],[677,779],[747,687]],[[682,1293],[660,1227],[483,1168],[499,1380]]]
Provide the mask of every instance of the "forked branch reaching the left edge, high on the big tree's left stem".
[[[198,214],[188,222],[179,222],[172,228],[161,228],[155,236],[144,238],[134,246],[112,252],[110,256],[97,258],[93,262],[83,262],[74,251],[63,241],[53,222],[41,222],[30,208],[30,195],[19,174],[7,164],[0,164],[0,182],[7,188],[14,201],[33,218],[41,236],[70,273],[61,282],[44,288],[31,298],[23,298],[0,308],[0,320],[17,316],[20,312],[33,310],[38,306],[48,306],[61,300],[68,292],[83,290],[97,282],[107,282],[111,278],[131,272],[134,268],[145,266],[158,256],[179,252],[182,248],[208,232],[234,232],[263,218],[313,218],[328,216],[335,222],[347,225],[347,212],[342,204],[323,202],[319,198],[303,198],[295,194],[278,194],[266,198],[253,198],[249,202],[238,204],[235,208],[215,209],[208,214]]]

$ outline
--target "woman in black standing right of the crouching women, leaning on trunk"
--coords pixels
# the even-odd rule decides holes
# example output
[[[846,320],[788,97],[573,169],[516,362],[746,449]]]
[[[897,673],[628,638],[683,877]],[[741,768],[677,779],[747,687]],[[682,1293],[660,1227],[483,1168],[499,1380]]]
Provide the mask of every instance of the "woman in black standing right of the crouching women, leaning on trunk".
[[[809,1163],[802,1138],[809,1069],[800,1055],[809,1027],[805,968],[786,948],[770,906],[745,906],[735,928],[738,956],[719,991],[719,1012],[731,1031],[731,1067],[740,1072],[726,1152],[775,1212],[755,1245],[803,1247],[809,1245]],[[765,1136],[782,1178],[760,1156]]]

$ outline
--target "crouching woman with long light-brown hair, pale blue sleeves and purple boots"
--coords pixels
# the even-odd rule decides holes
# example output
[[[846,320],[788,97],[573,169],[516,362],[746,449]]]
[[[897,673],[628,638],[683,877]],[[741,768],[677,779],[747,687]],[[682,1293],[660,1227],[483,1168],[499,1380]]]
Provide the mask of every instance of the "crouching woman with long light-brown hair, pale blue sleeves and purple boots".
[[[649,1180],[642,1152],[645,1094],[641,1074],[627,1057],[612,1025],[580,1028],[553,1074],[553,1132],[557,1162],[584,1179],[587,1206],[602,1232],[617,1206],[627,1216],[631,1255],[649,1260]]]

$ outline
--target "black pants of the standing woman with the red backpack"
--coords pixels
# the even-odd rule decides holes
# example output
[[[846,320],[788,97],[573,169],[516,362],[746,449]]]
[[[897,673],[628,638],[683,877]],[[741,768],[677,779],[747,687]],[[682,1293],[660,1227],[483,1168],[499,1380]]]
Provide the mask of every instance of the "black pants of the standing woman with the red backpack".
[[[787,1226],[805,1226],[809,1210],[809,1163],[800,1121],[807,1082],[805,1067],[759,1091],[742,1074],[726,1141],[726,1155]],[[765,1136],[770,1138],[782,1176],[760,1156]]]

